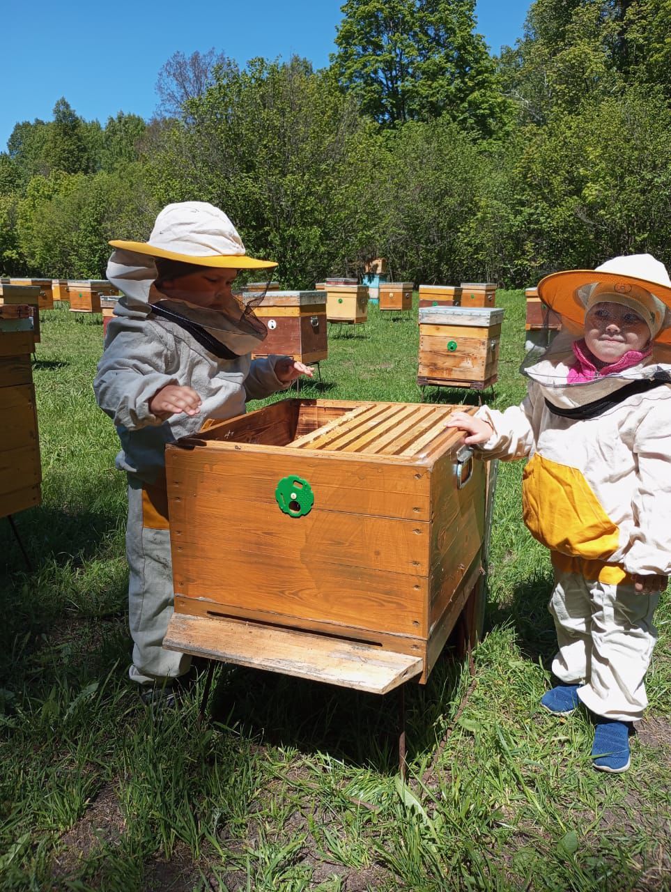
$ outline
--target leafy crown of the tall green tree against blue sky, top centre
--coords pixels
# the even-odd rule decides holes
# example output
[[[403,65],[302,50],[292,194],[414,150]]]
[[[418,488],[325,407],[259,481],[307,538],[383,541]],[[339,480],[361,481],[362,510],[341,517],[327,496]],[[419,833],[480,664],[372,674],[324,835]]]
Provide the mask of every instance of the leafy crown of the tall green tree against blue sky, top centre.
[[[347,0],[332,65],[381,124],[447,115],[491,136],[505,120],[475,0]]]

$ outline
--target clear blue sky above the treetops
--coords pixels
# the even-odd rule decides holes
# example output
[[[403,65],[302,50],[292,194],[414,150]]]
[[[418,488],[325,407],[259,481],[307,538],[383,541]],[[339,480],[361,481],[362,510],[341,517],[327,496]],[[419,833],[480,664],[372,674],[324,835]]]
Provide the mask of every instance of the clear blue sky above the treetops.
[[[117,111],[150,118],[170,56],[211,46],[244,64],[299,54],[315,67],[334,52],[343,0],[33,0],[5,4],[0,150],[17,121],[51,120],[65,96],[86,120]],[[515,43],[531,0],[477,0],[478,30],[494,52]]]

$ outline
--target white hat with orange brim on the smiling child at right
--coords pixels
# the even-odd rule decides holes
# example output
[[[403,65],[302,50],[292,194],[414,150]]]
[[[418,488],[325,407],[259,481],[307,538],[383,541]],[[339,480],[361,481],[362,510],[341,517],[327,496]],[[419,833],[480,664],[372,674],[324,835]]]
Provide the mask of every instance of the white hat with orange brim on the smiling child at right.
[[[538,296],[567,327],[582,330],[595,303],[619,303],[637,312],[657,343],[671,344],[671,278],[651,254],[614,257],[595,269],[567,269],[538,283]]]

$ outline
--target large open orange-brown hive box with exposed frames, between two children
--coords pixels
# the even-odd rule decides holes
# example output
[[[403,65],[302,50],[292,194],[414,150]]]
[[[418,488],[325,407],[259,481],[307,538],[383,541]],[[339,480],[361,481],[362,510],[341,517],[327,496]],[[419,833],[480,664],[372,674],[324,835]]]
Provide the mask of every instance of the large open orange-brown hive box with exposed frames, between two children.
[[[427,681],[481,571],[485,463],[445,427],[458,408],[285,400],[169,444],[163,646],[377,693]]]

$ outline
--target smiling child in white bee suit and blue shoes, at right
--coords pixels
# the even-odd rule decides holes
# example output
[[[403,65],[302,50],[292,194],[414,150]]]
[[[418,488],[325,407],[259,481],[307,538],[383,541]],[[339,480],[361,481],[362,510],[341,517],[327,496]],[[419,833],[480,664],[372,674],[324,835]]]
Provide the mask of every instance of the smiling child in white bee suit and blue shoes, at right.
[[[449,424],[482,458],[530,458],[523,516],[551,549],[559,644],[559,684],[541,703],[567,715],[582,702],[595,725],[592,764],[625,772],[671,571],[671,366],[661,357],[671,281],[638,254],[555,273],[538,293],[582,336],[562,334],[526,369],[521,406],[483,406]]]

